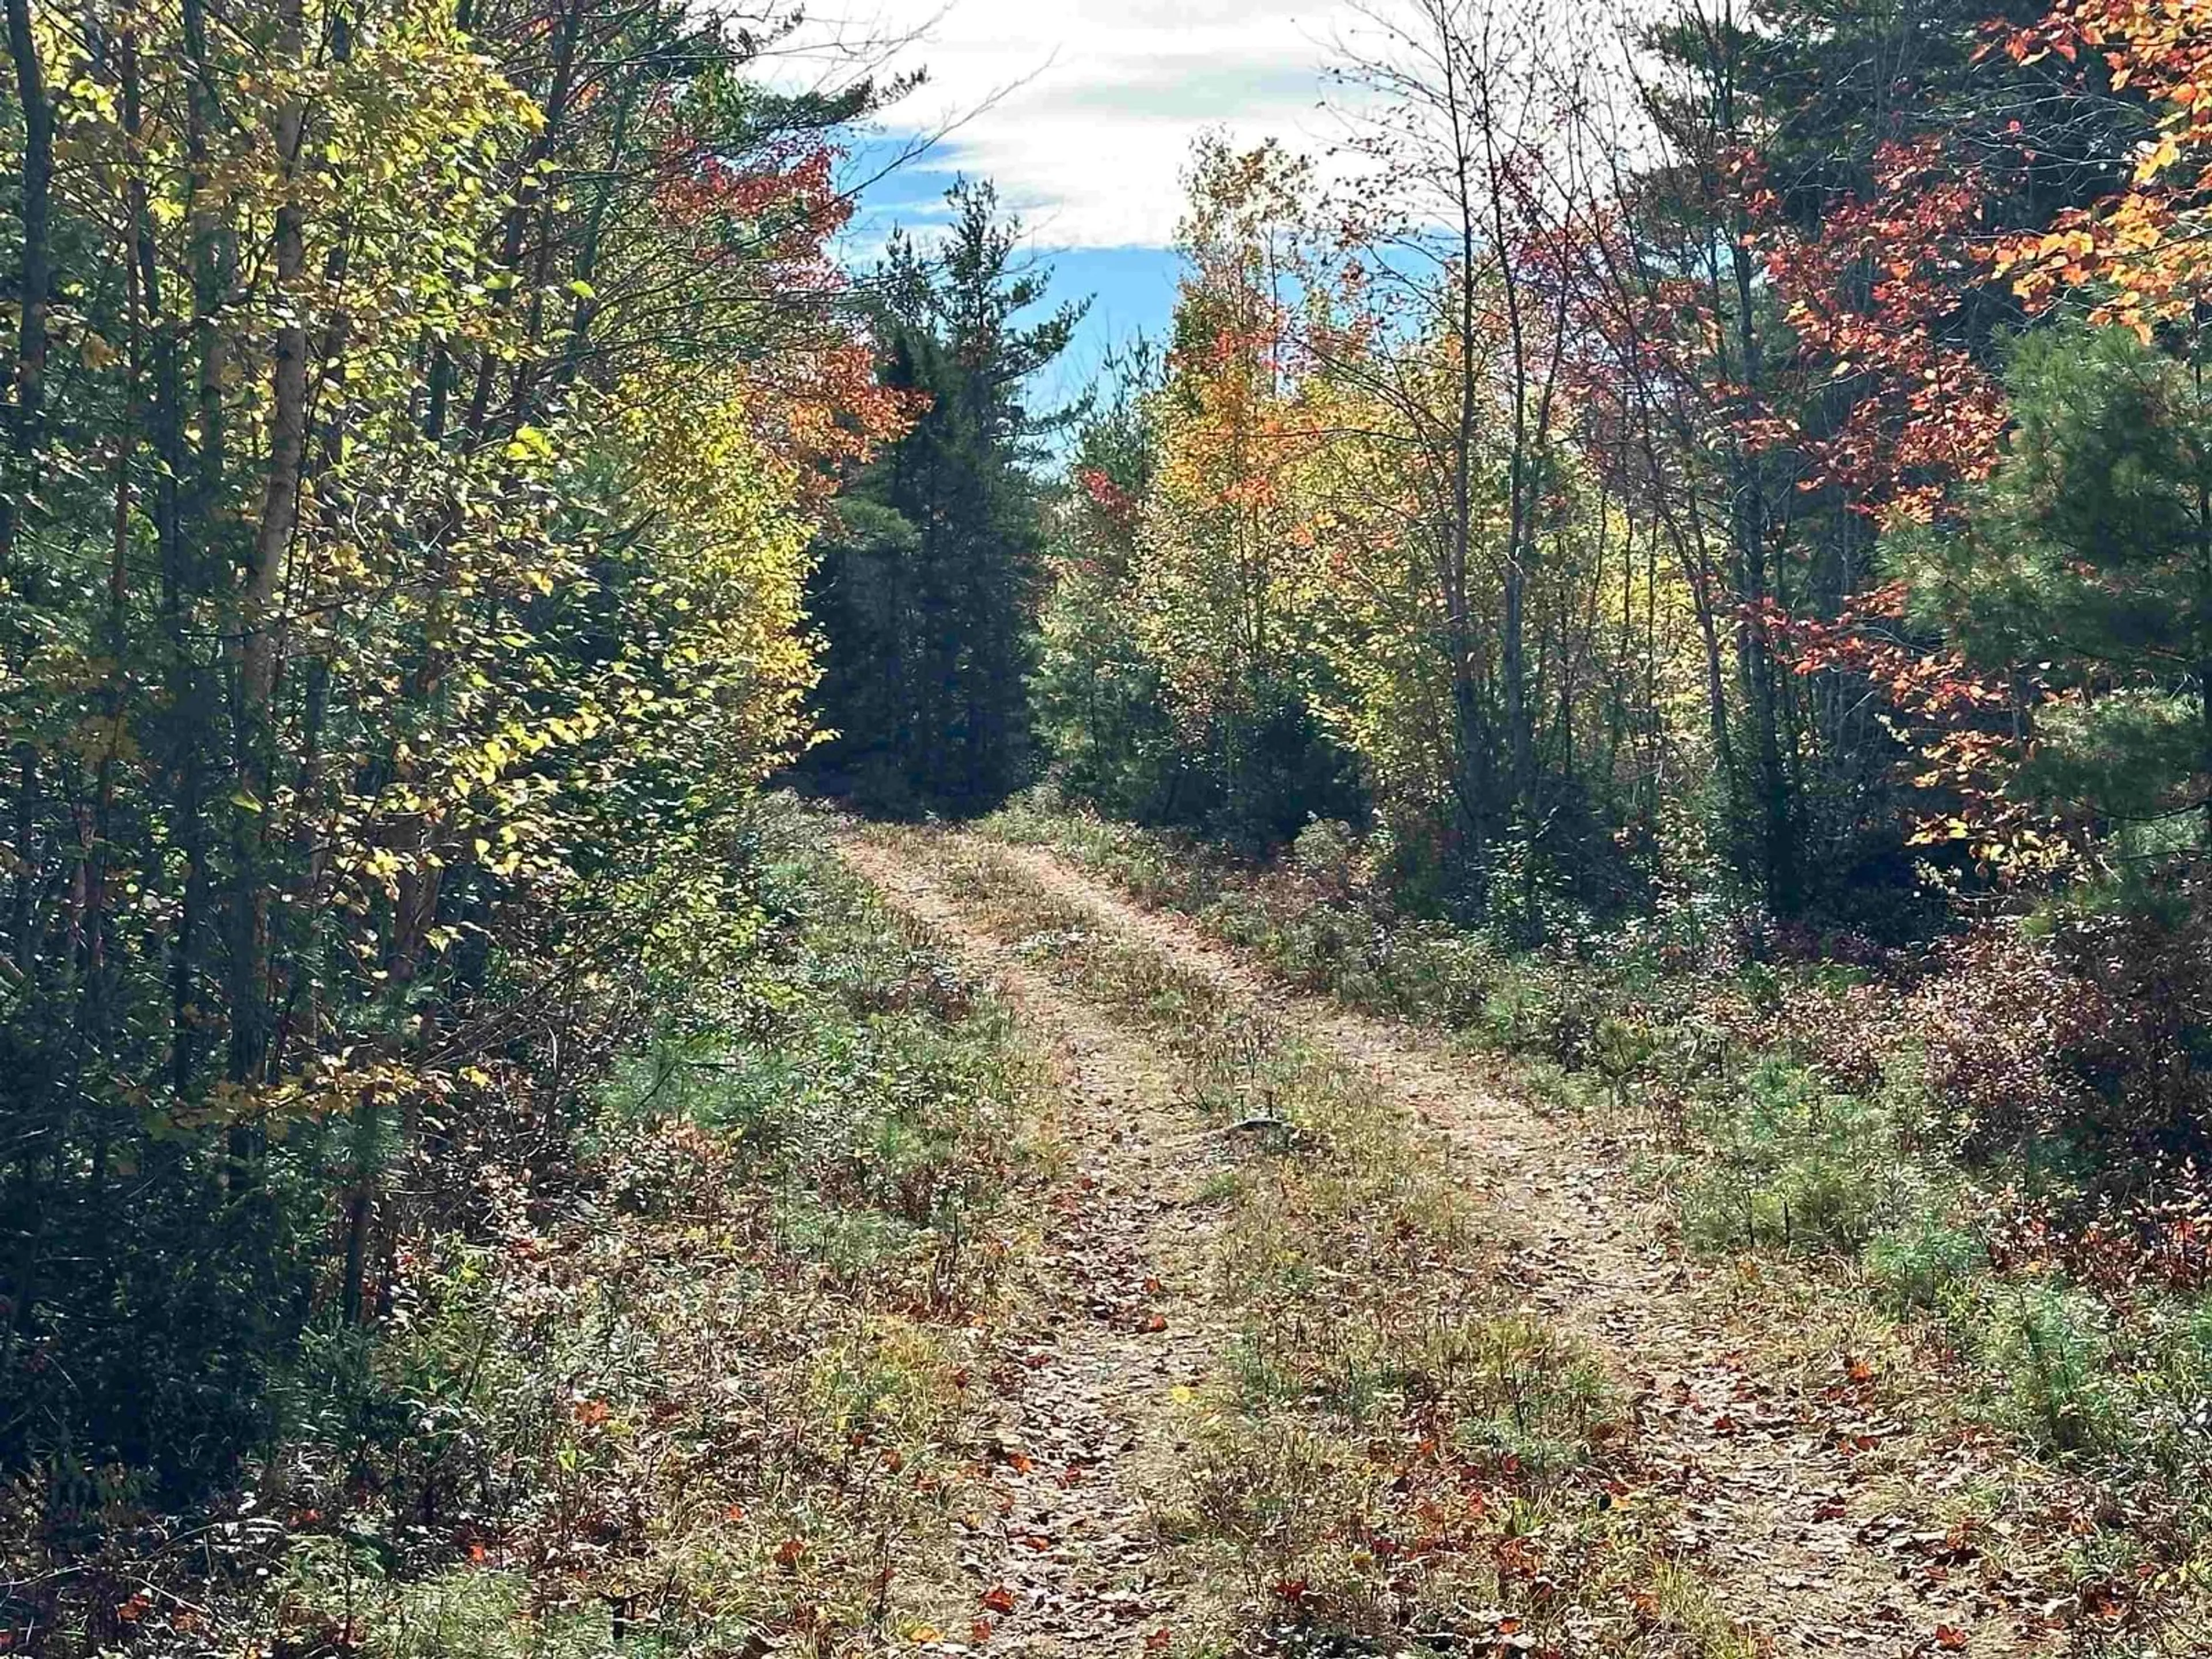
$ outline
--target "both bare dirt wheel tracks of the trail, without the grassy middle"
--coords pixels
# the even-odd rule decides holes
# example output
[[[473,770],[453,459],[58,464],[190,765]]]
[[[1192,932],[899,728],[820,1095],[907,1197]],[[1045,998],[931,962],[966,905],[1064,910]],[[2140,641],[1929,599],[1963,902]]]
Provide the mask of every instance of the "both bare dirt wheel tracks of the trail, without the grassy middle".
[[[1504,1294],[1601,1356],[1628,1400],[1650,1498],[1666,1506],[1663,1546],[1694,1564],[1725,1628],[1750,1632],[1745,1646],[1776,1655],[2037,1650],[2004,1573],[1989,1555],[1958,1546],[1953,1495],[1918,1484],[1922,1469],[1949,1471],[1955,1484],[1960,1449],[1944,1444],[1944,1455],[1931,1455],[1938,1449],[1927,1431],[1900,1420],[1893,1396],[1843,1332],[1783,1334],[1785,1365],[1747,1345],[1701,1270],[1663,1248],[1624,1197],[1617,1170],[1568,1128],[1489,1086],[1442,1042],[1292,995],[1190,922],[1130,905],[1040,847],[929,834],[869,838],[852,858],[896,905],[1000,978],[1066,1057],[1071,1139],[1095,1183],[1086,1192],[1102,1197],[1077,1208],[1075,1217],[1088,1219],[1071,1217],[1068,1239],[1046,1254],[1068,1274],[1077,1272],[1071,1259],[1084,1256],[1086,1272],[1104,1272],[1113,1290],[1093,1303],[1084,1340],[1075,1349],[1064,1343],[1053,1365],[1079,1378],[1077,1438],[1130,1425],[1124,1451],[1102,1464],[1097,1491],[1106,1495],[1095,1526],[1121,1540],[1135,1568],[1124,1579],[1150,1586],[1146,1617],[1168,1615],[1161,1628],[1190,1590],[1175,1586],[1172,1568],[1139,1559],[1128,1520],[1137,1504],[1157,1502],[1144,1498],[1144,1471],[1175,1451],[1159,1396],[1172,1376],[1203,1371],[1214,1347],[1203,1334],[1203,1223],[1166,1221],[1206,1179],[1210,1141],[1172,1110],[1175,1068],[1130,1040],[1126,1011],[1102,1009],[1082,995],[1079,978],[1071,989],[1033,964],[1024,938],[1048,931],[1040,922],[1086,920],[1117,949],[1148,951],[1210,982],[1349,1066],[1365,1088],[1400,1102],[1425,1126],[1453,1183],[1480,1201],[1484,1225],[1504,1243],[1495,1263]],[[1119,1241],[1119,1252],[1108,1245],[1102,1254],[1093,1239]],[[1130,1296],[1130,1274],[1164,1290],[1144,1303]],[[1064,1296],[1075,1294],[1088,1292],[1071,1276]],[[1168,1323],[1150,1347],[1128,1336],[1119,1310],[1135,1305]],[[1035,1500],[1015,1491],[1018,1509]],[[1071,1635],[1071,1619],[1115,1624],[1106,1593],[1084,1588],[1099,1564],[1075,1566],[1053,1562],[1042,1579],[1020,1579],[1040,1639]],[[1635,1650],[1741,1650],[1730,1641],[1708,1632],[1703,1646]]]

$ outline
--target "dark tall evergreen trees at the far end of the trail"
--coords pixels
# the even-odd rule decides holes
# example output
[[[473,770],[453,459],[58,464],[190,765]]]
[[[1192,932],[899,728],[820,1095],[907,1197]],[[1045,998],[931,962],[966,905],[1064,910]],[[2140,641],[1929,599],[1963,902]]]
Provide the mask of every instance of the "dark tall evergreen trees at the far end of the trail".
[[[1020,219],[956,184],[936,250],[894,234],[878,281],[878,378],[920,405],[854,480],[821,546],[830,641],[821,770],[876,807],[991,805],[1029,761],[1029,635],[1044,546],[1033,462],[1073,414],[1040,416],[1029,380],[1084,316],[1035,307],[1051,272],[1020,261]]]

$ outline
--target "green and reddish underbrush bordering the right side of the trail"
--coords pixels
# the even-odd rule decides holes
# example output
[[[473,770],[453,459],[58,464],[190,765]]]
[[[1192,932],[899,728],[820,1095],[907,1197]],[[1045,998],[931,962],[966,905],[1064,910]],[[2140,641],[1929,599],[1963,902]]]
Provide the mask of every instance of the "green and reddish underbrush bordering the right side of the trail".
[[[1190,914],[1298,989],[1509,1057],[1674,1199],[1692,1250],[1787,1256],[1900,1321],[1942,1367],[1944,1409],[2086,1482],[2064,1520],[2086,1540],[2084,1639],[2126,1648],[2154,1606],[2203,1617],[2212,1183],[2172,1148],[2212,1075],[2192,1048],[2212,969],[2188,929],[2130,953],[2117,922],[2059,918],[1973,933],[1918,973],[1739,960],[1666,918],[1528,953],[1396,916],[1340,858],[1256,869],[1022,803],[987,827]],[[2121,960],[2150,967],[2119,984],[2101,964]]]

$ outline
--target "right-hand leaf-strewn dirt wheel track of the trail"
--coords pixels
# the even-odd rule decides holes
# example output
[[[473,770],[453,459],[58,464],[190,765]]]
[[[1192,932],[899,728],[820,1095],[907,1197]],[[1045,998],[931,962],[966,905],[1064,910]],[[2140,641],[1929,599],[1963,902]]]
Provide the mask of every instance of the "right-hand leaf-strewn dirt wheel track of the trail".
[[[1699,1270],[1655,1239],[1621,1194],[1619,1170],[1575,1130],[1506,1099],[1440,1042],[1294,995],[1188,920],[1146,911],[1044,849],[987,845],[1055,898],[1279,1009],[1444,1139],[1460,1177],[1489,1194],[1515,1237],[1528,1303],[1593,1340],[1635,1394],[1648,1444],[1672,1469],[1681,1546],[1728,1613],[1776,1655],[2039,1648],[2002,1586],[1984,1582],[1982,1562],[1951,1551],[1929,1517],[1938,1493],[1913,1486],[1916,1460],[1896,1444],[1911,1425],[1885,1420],[1871,1391],[1849,1385],[1840,1352],[1840,1387],[1827,1398],[1792,1398],[1761,1376],[1699,1294]],[[894,878],[887,860],[876,867]],[[945,927],[980,938],[956,911]],[[1099,1033],[1102,1022],[1064,993],[1035,995],[1071,1029]],[[1110,1037],[1091,1042],[1106,1053]],[[1130,1104],[1146,1093],[1130,1091]]]

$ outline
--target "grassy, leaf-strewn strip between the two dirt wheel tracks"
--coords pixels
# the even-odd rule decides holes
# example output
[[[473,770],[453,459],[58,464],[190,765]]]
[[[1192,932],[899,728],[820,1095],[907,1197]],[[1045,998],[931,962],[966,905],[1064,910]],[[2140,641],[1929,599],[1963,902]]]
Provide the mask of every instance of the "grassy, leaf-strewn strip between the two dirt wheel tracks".
[[[1243,1588],[1243,1652],[1747,1655],[1668,1544],[1635,1409],[1509,1303],[1482,1206],[1332,1055],[989,847],[931,867],[1000,938],[1186,1066],[1225,1170],[1234,1340],[1186,1391],[1166,1524]]]

